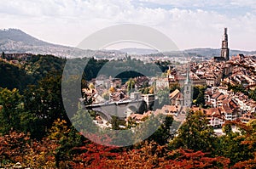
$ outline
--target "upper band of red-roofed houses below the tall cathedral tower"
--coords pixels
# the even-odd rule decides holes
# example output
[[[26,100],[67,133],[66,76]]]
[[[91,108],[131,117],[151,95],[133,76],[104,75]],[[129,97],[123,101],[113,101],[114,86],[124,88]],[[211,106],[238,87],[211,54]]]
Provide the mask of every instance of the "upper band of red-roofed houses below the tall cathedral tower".
[[[169,67],[166,77],[156,80],[157,87],[169,87],[170,84],[179,82],[183,84],[185,80],[185,65]],[[189,78],[193,85],[216,87],[221,82],[231,84],[242,84],[243,87],[256,84],[256,57],[238,54],[226,62],[215,62],[214,59],[190,64]]]

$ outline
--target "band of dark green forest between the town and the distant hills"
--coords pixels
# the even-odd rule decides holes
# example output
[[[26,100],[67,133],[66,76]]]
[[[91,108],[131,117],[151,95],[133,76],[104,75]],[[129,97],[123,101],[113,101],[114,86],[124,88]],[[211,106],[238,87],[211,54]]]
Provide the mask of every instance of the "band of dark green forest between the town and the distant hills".
[[[96,60],[93,58],[74,60],[75,64],[78,65],[67,65],[70,67],[70,71],[75,70],[76,67],[83,67],[84,63],[87,63],[86,66],[84,66],[83,76],[86,81],[96,78],[98,73],[105,76],[116,75],[114,77],[124,79],[136,76],[147,76],[143,75],[143,72],[149,75],[160,76],[160,73],[166,71],[168,65],[170,65],[169,62],[158,61],[155,63],[157,66],[155,66],[152,64],[144,64],[141,60],[131,58],[115,61],[109,61],[107,59]],[[20,92],[23,92],[27,85],[37,84],[39,80],[43,79],[50,72],[61,74],[66,62],[67,59],[52,55],[33,55],[31,59],[22,65],[12,65],[0,60],[0,87],[7,87],[9,89],[17,88]]]

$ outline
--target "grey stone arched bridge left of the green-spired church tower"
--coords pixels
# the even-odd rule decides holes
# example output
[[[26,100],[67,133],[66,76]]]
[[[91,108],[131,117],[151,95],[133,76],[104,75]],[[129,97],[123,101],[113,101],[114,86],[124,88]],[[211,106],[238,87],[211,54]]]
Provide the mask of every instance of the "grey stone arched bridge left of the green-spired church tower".
[[[97,114],[106,121],[111,121],[112,116],[117,116],[119,119],[125,119],[127,116],[131,115],[139,109],[140,105],[143,103],[143,99],[137,100],[124,100],[117,102],[106,102],[103,104],[91,104],[85,106],[86,110],[94,110]]]

